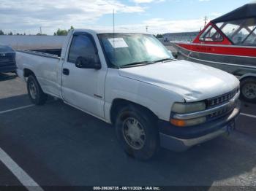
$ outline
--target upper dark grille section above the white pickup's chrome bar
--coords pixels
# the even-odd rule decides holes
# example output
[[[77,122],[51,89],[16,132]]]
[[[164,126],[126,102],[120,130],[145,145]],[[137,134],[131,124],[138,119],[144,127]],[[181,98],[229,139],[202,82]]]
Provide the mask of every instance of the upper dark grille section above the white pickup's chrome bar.
[[[236,95],[236,93],[238,93],[238,89],[233,90],[230,93],[225,93],[224,95],[220,95],[215,98],[210,98],[207,100],[207,106],[209,108],[224,104],[225,102],[230,101],[230,99],[233,98]]]

